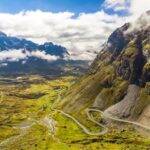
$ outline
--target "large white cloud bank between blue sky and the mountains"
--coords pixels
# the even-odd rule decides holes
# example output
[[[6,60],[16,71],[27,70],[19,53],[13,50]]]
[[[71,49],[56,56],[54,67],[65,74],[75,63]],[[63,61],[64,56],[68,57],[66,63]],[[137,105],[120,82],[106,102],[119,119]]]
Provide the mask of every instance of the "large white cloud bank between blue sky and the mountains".
[[[11,35],[43,43],[65,46],[72,59],[93,60],[110,33],[149,9],[149,0],[105,0],[95,13],[25,11],[0,13],[0,30]],[[112,9],[113,14],[107,13]],[[128,12],[119,15],[120,11]]]

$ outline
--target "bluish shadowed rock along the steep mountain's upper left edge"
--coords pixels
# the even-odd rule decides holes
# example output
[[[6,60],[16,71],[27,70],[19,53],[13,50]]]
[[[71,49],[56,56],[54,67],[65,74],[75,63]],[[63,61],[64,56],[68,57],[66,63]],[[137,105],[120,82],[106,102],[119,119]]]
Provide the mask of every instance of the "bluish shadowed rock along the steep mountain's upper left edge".
[[[96,59],[91,65],[90,71],[96,70],[99,66],[99,61],[110,62],[114,61],[116,57],[121,53],[123,48],[129,43],[130,36],[125,35],[124,32],[130,27],[127,23],[122,27],[116,29],[108,38],[107,43],[104,44],[103,49],[97,55]]]

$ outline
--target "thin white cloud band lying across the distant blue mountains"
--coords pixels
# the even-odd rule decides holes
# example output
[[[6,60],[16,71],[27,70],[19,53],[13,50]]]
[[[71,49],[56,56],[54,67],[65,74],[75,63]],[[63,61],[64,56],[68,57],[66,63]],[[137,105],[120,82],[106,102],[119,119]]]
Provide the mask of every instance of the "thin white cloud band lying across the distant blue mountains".
[[[39,51],[39,50],[36,50],[36,51],[32,51],[32,52],[29,52],[29,51],[25,51],[25,50],[16,50],[16,49],[11,49],[11,50],[6,50],[6,51],[1,51],[0,52],[0,62],[3,63],[3,62],[14,62],[14,61],[19,61],[19,60],[24,60],[23,63],[25,63],[25,60],[28,58],[28,57],[36,57],[36,58],[40,58],[40,59],[43,59],[43,60],[46,60],[46,61],[55,61],[57,59],[59,59],[59,57],[57,56],[53,56],[53,55],[49,55],[49,54],[46,54],[44,51]]]

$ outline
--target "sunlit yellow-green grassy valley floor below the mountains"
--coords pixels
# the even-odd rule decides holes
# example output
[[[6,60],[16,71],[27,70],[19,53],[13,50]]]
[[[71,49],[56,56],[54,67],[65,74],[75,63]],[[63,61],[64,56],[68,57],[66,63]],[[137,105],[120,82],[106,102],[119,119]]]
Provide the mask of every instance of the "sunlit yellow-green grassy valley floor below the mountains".
[[[0,79],[0,150],[149,150],[150,139],[132,127],[87,135],[72,119],[55,111],[74,77]],[[61,97],[61,98],[60,98]],[[98,113],[93,114],[101,120]],[[91,132],[103,129],[84,112],[74,115]]]

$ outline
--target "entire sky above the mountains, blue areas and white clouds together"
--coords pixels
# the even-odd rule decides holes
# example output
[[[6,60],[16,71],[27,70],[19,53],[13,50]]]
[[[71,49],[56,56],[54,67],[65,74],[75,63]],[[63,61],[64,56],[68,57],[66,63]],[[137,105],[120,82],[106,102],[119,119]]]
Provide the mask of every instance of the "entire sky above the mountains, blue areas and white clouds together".
[[[0,31],[93,60],[116,28],[149,9],[150,0],[0,0]]]

